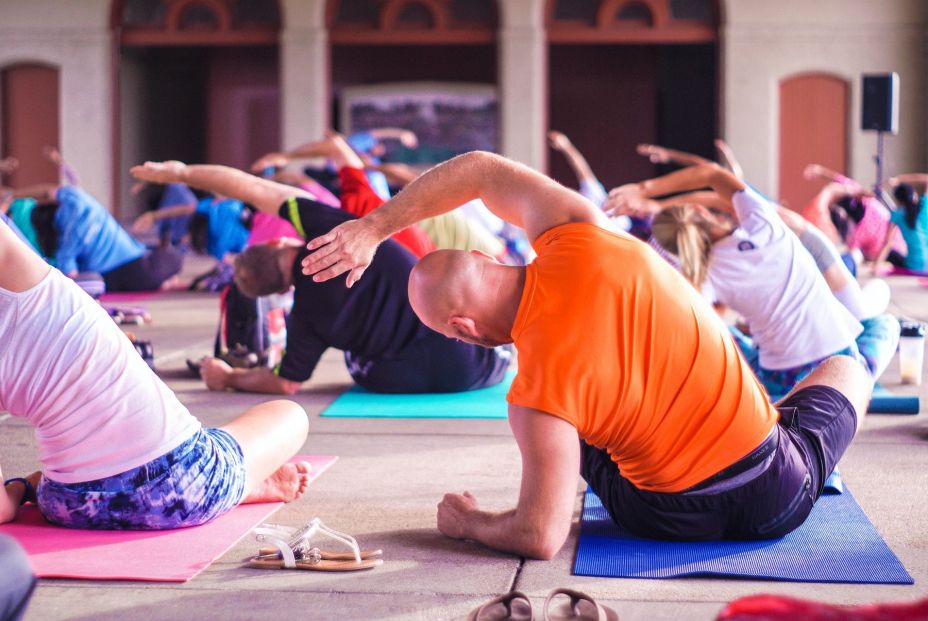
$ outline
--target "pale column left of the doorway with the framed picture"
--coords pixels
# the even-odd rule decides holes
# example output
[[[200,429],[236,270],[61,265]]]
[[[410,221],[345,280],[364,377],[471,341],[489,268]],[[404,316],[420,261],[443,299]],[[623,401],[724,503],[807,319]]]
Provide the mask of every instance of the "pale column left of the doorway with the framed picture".
[[[281,141],[284,148],[329,127],[329,37],[325,0],[284,0],[280,36]]]

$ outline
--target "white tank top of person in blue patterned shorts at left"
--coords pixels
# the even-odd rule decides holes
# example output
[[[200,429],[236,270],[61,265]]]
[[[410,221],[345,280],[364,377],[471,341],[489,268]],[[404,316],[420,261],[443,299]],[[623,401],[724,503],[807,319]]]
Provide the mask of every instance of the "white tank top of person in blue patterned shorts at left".
[[[51,269],[0,288],[0,410],[36,430],[45,475],[80,483],[141,466],[200,429],[103,308]]]

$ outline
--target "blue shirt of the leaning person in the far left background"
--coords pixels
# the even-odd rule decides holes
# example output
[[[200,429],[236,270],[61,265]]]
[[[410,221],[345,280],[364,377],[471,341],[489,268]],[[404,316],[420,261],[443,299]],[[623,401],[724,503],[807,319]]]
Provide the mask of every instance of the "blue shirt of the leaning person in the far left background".
[[[134,239],[92,196],[71,185],[55,194],[58,250],[55,262],[65,274],[105,274],[145,255]]]

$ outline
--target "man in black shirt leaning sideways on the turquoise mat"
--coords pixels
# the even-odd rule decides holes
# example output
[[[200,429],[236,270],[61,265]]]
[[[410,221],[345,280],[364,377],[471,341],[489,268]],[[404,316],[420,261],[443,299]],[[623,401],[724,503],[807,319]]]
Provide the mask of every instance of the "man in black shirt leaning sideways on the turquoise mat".
[[[313,200],[304,190],[224,166],[148,162],[132,174],[153,183],[186,183],[251,203],[289,220],[314,238],[352,216]],[[236,261],[236,284],[252,297],[294,287],[287,320],[287,348],[272,369],[233,369],[208,358],[201,368],[209,388],[293,394],[309,379],[323,352],[345,352],[352,378],[377,392],[455,392],[499,383],[509,366],[508,349],[484,349],[448,339],[423,325],[407,297],[415,257],[387,241],[377,251],[369,278],[346,289],[303,276],[305,244],[283,240],[246,249]],[[370,277],[373,276],[373,277]]]

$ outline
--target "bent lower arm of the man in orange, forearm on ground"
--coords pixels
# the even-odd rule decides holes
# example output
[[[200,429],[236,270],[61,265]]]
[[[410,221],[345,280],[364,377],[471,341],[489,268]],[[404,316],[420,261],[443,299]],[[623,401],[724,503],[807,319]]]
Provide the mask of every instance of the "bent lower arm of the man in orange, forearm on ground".
[[[570,532],[580,443],[566,421],[510,406],[509,424],[522,453],[522,485],[516,508],[481,511],[469,493],[446,494],[438,505],[438,529],[455,539],[473,539],[505,552],[548,560]]]

